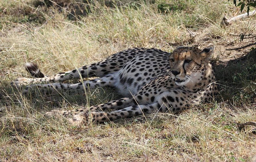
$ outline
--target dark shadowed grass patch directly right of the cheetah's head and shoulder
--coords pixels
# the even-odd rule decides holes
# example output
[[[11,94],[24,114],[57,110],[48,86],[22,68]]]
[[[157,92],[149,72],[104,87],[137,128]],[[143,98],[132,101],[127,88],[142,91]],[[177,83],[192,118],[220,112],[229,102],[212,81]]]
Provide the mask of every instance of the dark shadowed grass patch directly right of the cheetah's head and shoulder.
[[[247,55],[215,64],[215,74],[218,80],[219,100],[229,101],[234,106],[256,102],[256,50]]]

